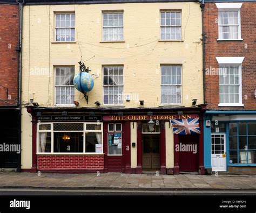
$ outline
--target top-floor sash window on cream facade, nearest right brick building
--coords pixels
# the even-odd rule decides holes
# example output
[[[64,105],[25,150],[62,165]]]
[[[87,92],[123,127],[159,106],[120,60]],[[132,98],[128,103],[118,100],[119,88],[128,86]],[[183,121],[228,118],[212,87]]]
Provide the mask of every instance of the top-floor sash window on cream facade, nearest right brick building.
[[[181,40],[181,12],[163,11],[161,16],[161,40]]]

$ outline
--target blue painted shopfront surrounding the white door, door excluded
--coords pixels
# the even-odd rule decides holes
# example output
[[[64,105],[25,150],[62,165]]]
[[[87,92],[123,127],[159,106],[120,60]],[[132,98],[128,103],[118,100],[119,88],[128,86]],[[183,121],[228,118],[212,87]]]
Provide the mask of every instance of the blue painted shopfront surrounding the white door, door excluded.
[[[206,126],[206,120],[211,120],[211,126]],[[218,126],[223,126],[218,133],[226,134],[226,171],[229,166],[256,167],[256,111],[206,111],[204,116],[205,168],[212,168],[211,134],[216,133],[213,128],[215,120],[218,120]]]

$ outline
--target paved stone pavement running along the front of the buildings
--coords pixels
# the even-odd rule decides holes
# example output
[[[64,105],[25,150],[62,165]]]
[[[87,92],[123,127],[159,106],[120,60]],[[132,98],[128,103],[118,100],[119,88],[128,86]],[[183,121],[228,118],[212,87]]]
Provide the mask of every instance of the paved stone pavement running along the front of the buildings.
[[[253,190],[256,175],[0,173],[0,188]]]

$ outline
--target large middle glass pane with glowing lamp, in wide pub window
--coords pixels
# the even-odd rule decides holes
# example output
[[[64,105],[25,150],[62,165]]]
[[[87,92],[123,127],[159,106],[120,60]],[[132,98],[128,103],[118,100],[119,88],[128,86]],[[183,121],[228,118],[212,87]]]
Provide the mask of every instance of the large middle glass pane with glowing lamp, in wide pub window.
[[[83,152],[83,132],[54,132],[54,152]]]

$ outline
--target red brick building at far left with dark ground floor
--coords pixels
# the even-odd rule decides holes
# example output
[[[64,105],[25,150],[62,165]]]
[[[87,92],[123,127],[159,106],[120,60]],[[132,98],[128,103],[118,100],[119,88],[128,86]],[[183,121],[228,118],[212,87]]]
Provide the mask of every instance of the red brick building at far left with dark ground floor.
[[[0,19],[0,169],[19,168],[19,6],[16,1],[0,1]],[[8,149],[11,145],[19,151]]]

